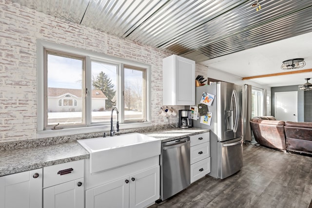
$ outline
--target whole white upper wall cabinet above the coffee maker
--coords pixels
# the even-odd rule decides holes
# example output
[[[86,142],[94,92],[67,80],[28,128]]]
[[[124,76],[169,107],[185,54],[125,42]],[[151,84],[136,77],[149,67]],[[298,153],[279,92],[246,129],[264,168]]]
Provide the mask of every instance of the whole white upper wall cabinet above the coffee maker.
[[[162,60],[163,105],[195,105],[195,61],[172,55]]]

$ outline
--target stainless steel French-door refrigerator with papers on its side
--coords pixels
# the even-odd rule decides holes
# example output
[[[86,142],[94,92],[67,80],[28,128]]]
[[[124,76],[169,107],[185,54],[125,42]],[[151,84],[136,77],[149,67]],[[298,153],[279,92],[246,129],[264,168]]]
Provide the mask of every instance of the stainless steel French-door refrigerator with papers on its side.
[[[210,176],[223,179],[243,167],[242,87],[228,82],[196,87],[196,105],[203,94],[215,95],[208,107],[211,124],[193,120],[194,127],[210,129]],[[200,110],[200,109],[199,109]]]

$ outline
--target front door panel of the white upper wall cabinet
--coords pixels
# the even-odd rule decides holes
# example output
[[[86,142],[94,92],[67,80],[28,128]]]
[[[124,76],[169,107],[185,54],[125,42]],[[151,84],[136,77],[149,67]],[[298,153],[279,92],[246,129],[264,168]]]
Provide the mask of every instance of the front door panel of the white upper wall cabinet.
[[[176,56],[176,105],[195,105],[195,61]]]

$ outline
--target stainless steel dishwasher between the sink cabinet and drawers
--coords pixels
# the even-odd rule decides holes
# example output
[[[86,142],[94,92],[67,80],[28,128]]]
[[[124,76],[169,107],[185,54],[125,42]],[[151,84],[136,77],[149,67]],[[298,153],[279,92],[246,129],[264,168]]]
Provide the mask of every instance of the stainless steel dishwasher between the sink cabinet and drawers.
[[[160,171],[161,200],[190,185],[190,137],[161,144]]]

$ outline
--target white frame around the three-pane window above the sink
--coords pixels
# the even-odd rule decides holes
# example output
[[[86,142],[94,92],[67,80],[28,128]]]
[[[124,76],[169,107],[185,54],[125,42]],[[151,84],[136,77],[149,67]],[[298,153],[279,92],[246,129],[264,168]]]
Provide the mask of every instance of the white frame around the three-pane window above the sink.
[[[122,123],[120,124],[119,129],[130,129],[130,128],[138,128],[138,127],[148,127],[152,126],[151,122],[151,65],[145,63],[139,63],[137,61],[131,61],[124,58],[119,57],[111,57],[102,53],[94,52],[94,51],[87,51],[83,49],[78,49],[71,46],[61,45],[58,43],[49,42],[46,40],[37,40],[37,138],[46,138],[46,137],[53,137],[53,136],[65,136],[65,135],[74,135],[74,134],[81,134],[81,133],[93,133],[93,132],[106,132],[110,130],[110,124],[96,124],[90,125],[87,127],[78,127],[78,128],[69,128],[69,129],[61,129],[61,130],[44,130],[44,48],[48,48],[50,50],[57,50],[64,53],[72,53],[77,54],[80,56],[86,56],[86,65],[87,69],[91,67],[91,59],[92,60],[107,60],[112,62],[122,63],[121,67],[124,65],[130,65],[138,68],[145,68],[146,69],[146,122],[136,122],[136,123]],[[120,70],[123,73],[123,70]],[[123,75],[121,74],[121,77]],[[91,71],[87,70],[87,79],[91,79]],[[117,83],[117,88],[123,89],[123,79]],[[91,82],[90,84],[91,85]],[[91,86],[86,86],[87,89],[91,89]],[[118,99],[121,101],[118,103],[117,108],[120,111],[124,112],[124,103],[123,99],[121,99],[123,93],[120,93]],[[91,112],[89,109],[91,108],[90,103],[87,103],[86,110]],[[91,119],[91,114],[87,115],[87,122],[88,119]],[[115,125],[114,121],[114,125]]]

